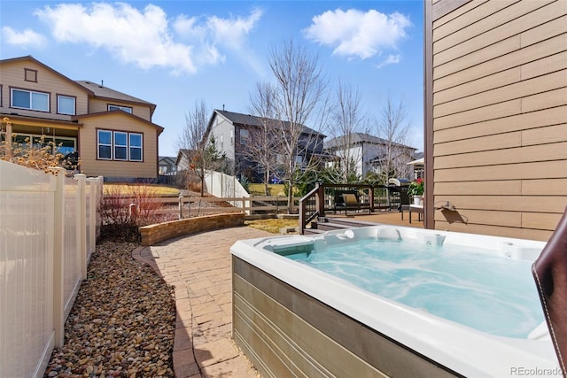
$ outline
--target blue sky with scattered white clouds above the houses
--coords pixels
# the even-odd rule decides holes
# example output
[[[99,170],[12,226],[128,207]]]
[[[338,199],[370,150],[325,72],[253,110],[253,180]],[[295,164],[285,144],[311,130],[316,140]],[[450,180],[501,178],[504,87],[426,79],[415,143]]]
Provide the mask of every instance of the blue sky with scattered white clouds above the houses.
[[[390,93],[408,106],[423,151],[421,1],[0,2],[0,58],[32,55],[73,80],[157,105],[159,155],[175,156],[190,108],[249,112],[268,51],[293,40],[335,83],[358,88],[377,118]],[[309,125],[307,125],[309,126]]]

